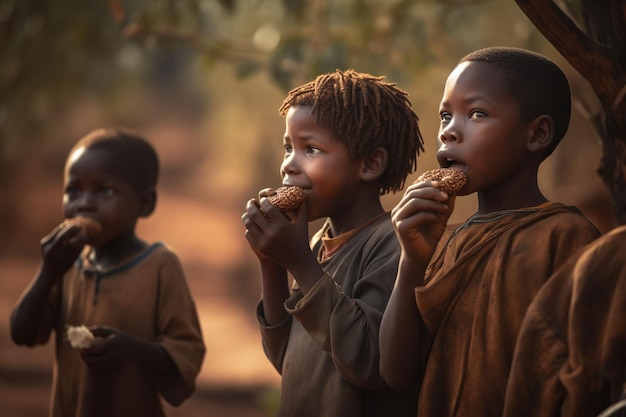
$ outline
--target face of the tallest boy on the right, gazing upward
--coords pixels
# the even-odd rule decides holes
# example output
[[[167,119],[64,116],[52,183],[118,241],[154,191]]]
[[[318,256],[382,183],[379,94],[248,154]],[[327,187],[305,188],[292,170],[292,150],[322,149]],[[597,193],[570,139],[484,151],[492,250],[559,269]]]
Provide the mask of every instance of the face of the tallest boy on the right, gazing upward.
[[[526,172],[530,123],[508,93],[504,73],[495,65],[464,62],[448,77],[439,106],[442,167],[468,176],[464,193],[510,184]]]

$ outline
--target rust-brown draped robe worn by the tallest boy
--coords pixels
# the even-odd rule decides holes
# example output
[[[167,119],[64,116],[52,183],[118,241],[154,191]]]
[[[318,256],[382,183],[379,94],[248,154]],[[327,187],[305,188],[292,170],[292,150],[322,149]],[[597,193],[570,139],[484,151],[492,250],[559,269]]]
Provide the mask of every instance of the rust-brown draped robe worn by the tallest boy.
[[[528,305],[598,235],[580,211],[558,203],[451,227],[415,290],[425,335],[417,415],[500,416]]]

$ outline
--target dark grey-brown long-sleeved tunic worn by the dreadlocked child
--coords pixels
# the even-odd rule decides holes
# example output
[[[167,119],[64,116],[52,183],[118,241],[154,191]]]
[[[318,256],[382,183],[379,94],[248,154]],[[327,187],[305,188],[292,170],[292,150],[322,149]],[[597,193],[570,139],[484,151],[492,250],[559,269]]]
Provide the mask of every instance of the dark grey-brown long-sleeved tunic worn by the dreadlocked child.
[[[328,227],[312,239],[314,252]],[[267,326],[259,305],[263,346],[282,375],[279,417],[415,416],[416,395],[392,390],[379,373],[378,332],[399,256],[387,214],[320,260],[330,275],[286,300],[286,321]]]

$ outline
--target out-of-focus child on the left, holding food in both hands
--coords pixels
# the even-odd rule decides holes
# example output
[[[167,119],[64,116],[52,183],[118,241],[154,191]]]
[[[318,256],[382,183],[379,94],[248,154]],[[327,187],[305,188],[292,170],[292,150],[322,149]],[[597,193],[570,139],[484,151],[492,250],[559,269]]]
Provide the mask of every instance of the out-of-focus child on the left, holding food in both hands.
[[[42,239],[11,315],[17,344],[55,333],[50,416],[163,416],[161,396],[179,405],[195,389],[204,344],[180,261],[135,234],[155,208],[158,170],[152,146],[125,130],[96,130],[69,154],[68,220]],[[83,325],[95,342],[75,349],[66,332]]]

